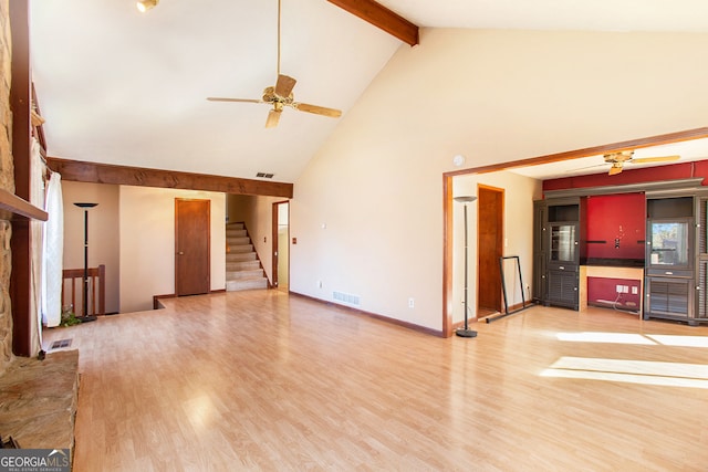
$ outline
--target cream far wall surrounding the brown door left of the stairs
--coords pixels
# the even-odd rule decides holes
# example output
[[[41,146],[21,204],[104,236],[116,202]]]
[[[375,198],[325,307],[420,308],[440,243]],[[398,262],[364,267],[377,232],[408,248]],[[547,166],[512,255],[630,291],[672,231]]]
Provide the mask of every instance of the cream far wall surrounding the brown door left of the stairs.
[[[211,290],[226,287],[226,196],[208,191],[121,186],[121,312],[153,308],[175,293],[175,199],[211,201]]]

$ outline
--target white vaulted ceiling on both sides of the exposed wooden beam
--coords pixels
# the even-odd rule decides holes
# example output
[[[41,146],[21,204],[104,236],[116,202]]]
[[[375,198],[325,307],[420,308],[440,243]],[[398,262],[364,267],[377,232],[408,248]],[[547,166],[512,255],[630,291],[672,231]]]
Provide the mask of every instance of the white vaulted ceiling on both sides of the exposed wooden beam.
[[[708,32],[705,0],[381,3],[429,28]],[[53,157],[294,181],[339,123],[287,108],[266,129],[267,105],[206,101],[259,98],[274,84],[277,0],[162,0],[146,14],[134,0],[34,0],[31,31]],[[281,72],[298,80],[296,101],[340,119],[398,48],[408,45],[326,0],[282,0]]]

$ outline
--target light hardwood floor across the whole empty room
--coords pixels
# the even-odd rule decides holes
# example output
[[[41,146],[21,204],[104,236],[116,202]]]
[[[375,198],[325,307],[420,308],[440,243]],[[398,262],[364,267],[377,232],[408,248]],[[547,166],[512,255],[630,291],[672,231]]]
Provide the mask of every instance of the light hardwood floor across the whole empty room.
[[[437,338],[280,291],[73,338],[75,471],[708,470],[708,327],[533,307]]]

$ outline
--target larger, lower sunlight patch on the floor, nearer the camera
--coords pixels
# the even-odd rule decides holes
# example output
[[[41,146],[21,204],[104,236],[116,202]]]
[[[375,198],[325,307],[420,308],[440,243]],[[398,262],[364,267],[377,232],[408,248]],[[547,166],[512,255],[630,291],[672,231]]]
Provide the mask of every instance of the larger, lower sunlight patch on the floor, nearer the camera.
[[[541,377],[708,389],[708,366],[587,357],[561,357]]]

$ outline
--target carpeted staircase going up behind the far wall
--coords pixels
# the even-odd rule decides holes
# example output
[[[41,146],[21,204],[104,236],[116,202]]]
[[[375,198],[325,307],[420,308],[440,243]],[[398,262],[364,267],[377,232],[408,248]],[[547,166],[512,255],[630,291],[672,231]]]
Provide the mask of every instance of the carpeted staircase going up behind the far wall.
[[[243,223],[226,225],[226,291],[268,289],[269,282]]]

